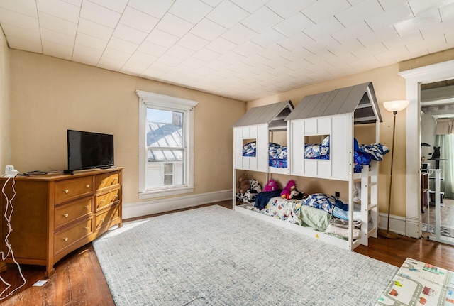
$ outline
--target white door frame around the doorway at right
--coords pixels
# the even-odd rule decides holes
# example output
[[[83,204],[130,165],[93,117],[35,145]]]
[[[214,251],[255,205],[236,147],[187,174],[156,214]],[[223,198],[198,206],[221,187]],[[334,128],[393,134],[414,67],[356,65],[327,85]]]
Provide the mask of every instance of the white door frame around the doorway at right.
[[[454,78],[454,60],[399,72],[406,80],[406,219],[405,234],[421,237],[420,85]],[[416,192],[415,192],[416,190]]]

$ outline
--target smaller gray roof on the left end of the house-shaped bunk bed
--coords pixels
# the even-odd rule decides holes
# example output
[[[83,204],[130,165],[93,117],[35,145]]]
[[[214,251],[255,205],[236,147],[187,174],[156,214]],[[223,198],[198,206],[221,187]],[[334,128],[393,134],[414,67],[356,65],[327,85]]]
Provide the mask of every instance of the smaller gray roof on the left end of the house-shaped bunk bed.
[[[246,111],[246,114],[236,121],[233,127],[268,124],[270,131],[285,130],[287,129],[285,119],[293,109],[292,101],[256,106]]]

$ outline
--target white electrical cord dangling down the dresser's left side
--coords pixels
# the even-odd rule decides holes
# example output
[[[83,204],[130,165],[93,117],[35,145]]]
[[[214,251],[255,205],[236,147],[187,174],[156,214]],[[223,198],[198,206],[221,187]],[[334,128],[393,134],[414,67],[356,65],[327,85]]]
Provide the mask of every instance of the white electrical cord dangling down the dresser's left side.
[[[13,179],[13,184],[11,185],[11,188],[13,190],[13,197],[11,197],[11,199],[8,199],[8,195],[6,195],[5,193],[5,187],[6,185],[8,184],[8,182]],[[14,176],[9,176],[8,177],[8,180],[6,180],[6,182],[4,183],[3,187],[1,188],[1,193],[3,193],[4,197],[6,198],[6,207],[5,207],[5,213],[4,213],[4,218],[6,220],[6,225],[8,226],[8,234],[6,234],[5,236],[5,244],[6,244],[6,248],[8,248],[8,253],[4,253],[4,251],[0,251],[1,253],[1,260],[4,261],[6,259],[6,257],[8,257],[10,254],[11,254],[11,258],[13,260],[13,263],[16,263],[16,266],[18,268],[18,271],[19,271],[19,274],[21,275],[21,278],[23,280],[23,284],[18,286],[16,289],[12,290],[10,293],[8,293],[7,295],[3,296],[4,293],[6,293],[7,290],[9,290],[9,288],[11,288],[11,284],[10,283],[7,283],[1,276],[0,276],[0,280],[1,282],[4,283],[4,285],[6,285],[6,288],[1,291],[0,293],[0,300],[4,300],[6,299],[6,297],[9,297],[10,295],[12,295],[16,290],[18,290],[19,288],[22,288],[26,283],[27,283],[27,280],[26,278],[23,277],[23,274],[22,274],[22,270],[21,270],[21,266],[19,265],[19,263],[16,261],[16,258],[14,257],[14,253],[13,253],[13,248],[11,248],[11,244],[9,244],[9,234],[11,234],[11,231],[13,231],[13,229],[11,228],[11,216],[13,215],[13,210],[14,210],[14,207],[13,207],[13,199],[14,197],[16,197],[16,190],[14,189],[14,185],[16,184],[16,180],[14,179]]]

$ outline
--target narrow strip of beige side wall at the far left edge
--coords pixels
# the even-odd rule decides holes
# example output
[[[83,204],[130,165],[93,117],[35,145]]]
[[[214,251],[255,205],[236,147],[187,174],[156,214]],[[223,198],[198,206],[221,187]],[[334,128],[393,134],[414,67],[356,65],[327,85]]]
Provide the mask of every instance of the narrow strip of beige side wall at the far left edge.
[[[0,28],[1,31],[1,28]],[[3,32],[0,35],[0,173],[10,163],[9,143],[9,49]]]

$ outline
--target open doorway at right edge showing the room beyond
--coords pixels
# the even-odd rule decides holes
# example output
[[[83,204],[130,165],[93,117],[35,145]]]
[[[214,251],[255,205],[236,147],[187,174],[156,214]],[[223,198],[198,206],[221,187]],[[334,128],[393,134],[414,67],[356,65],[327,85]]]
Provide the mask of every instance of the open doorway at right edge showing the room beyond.
[[[454,79],[421,84],[420,101],[421,232],[423,237],[454,243]]]

